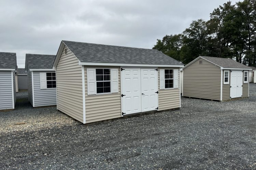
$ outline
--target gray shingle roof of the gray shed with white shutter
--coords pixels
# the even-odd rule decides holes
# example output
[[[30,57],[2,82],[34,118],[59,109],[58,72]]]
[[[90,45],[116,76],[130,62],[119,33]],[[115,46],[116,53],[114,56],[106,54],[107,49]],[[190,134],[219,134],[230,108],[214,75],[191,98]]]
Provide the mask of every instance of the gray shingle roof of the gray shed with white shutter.
[[[26,54],[26,70],[52,69],[56,55]]]

